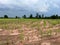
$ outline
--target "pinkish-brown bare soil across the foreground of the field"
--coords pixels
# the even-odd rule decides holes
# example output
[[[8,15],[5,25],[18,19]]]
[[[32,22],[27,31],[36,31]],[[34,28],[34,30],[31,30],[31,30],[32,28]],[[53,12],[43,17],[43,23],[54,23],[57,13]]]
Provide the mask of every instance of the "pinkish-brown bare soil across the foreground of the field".
[[[47,31],[52,30],[51,36],[42,36],[39,33],[37,28],[31,28],[26,25],[22,25],[21,30],[23,30],[24,40],[23,42],[19,39],[19,30],[2,30],[0,29],[0,40],[11,40],[8,42],[10,45],[59,45],[60,44],[60,33],[54,32],[55,30],[60,29],[60,24],[57,24],[53,27],[50,27],[51,24],[48,21],[46,22],[46,26],[44,27],[44,20],[40,22],[40,30]],[[36,23],[36,22],[35,22]],[[34,23],[33,23],[34,24]],[[5,37],[4,37],[5,36]],[[11,44],[12,43],[12,44]],[[8,45],[9,45],[8,44]],[[6,41],[7,45],[7,41]]]

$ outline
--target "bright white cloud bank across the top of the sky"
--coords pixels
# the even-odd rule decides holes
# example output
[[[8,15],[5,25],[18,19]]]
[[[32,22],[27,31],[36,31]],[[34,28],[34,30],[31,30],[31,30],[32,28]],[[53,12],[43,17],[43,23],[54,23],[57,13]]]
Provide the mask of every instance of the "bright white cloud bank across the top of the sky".
[[[23,7],[26,10],[34,10],[47,12],[50,7],[60,8],[60,0],[0,0],[0,4],[4,4],[9,8],[15,8],[13,5]]]

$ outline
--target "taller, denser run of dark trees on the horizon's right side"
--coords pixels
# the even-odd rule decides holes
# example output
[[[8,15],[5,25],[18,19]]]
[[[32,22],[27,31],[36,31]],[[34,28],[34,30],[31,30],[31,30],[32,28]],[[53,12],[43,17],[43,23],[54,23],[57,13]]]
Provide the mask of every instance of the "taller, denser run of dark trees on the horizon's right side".
[[[30,18],[30,19],[60,19],[60,16],[56,15],[52,15],[52,16],[44,16],[44,14],[39,15],[38,13],[36,14],[36,16],[34,17],[32,14],[30,14],[29,17],[27,17],[26,15],[23,16],[23,18]]]

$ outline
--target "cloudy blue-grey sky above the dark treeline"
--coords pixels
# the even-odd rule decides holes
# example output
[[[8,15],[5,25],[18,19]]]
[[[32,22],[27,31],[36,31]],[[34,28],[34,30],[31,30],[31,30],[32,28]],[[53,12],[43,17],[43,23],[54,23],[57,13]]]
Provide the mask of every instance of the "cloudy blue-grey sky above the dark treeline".
[[[60,15],[60,0],[0,0],[0,16]]]

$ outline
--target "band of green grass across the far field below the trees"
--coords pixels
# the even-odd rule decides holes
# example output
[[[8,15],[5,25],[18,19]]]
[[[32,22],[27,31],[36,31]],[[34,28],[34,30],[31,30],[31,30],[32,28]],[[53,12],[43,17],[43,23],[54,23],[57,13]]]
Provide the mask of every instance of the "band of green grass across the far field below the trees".
[[[60,19],[0,19],[0,29],[21,29],[22,25],[26,25],[27,27],[31,28],[39,28],[41,27],[41,20],[44,20],[43,26],[46,26],[46,21],[49,21],[49,23],[52,25],[60,24]]]

